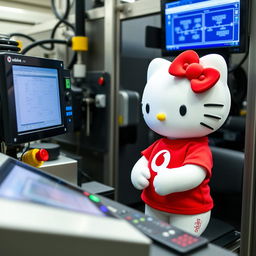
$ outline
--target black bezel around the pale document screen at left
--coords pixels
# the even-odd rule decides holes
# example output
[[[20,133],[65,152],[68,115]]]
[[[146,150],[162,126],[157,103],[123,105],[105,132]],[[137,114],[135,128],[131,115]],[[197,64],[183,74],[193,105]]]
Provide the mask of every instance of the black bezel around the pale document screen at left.
[[[1,108],[3,114],[2,126],[4,131],[2,139],[7,145],[17,145],[38,139],[48,138],[51,136],[63,134],[66,132],[65,125],[65,110],[64,110],[64,78],[63,78],[63,62],[45,58],[23,56],[18,54],[3,54],[4,74],[1,79]],[[56,69],[59,80],[59,97],[61,124],[48,126],[39,129],[33,129],[23,132],[18,132],[16,104],[13,84],[13,69],[12,66],[30,66],[39,68]]]

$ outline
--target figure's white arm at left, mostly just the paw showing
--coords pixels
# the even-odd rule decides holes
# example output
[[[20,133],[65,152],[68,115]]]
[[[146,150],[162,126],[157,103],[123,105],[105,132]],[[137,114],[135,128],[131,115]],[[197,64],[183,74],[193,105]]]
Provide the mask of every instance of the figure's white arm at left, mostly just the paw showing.
[[[141,190],[149,185],[150,171],[148,168],[148,160],[142,156],[134,165],[131,173],[131,181],[135,188]]]

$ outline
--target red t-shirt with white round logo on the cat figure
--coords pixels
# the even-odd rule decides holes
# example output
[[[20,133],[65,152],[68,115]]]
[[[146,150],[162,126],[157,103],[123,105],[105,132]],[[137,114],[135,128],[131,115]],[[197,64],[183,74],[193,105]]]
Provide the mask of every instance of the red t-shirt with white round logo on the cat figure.
[[[207,137],[177,140],[162,138],[142,151],[142,154],[148,160],[151,174],[149,186],[141,194],[142,200],[147,205],[160,211],[188,215],[199,214],[212,209],[213,201],[208,186],[211,177],[212,154]],[[157,167],[164,165],[171,169],[186,164],[202,166],[207,172],[204,181],[191,190],[171,193],[166,196],[158,195],[153,186]]]

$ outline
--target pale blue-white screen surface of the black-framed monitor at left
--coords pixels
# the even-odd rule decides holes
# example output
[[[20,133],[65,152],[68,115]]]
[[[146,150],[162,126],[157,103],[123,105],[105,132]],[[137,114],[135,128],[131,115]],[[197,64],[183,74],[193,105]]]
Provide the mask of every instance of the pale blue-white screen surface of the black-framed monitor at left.
[[[62,124],[58,70],[13,65],[18,133]]]

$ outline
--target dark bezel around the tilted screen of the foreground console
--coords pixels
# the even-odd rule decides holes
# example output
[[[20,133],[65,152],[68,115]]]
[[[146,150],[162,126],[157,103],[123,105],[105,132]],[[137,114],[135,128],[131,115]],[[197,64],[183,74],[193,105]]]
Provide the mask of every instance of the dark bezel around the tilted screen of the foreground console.
[[[53,182],[56,182],[57,184],[59,185],[62,185],[62,186],[65,186],[67,187],[68,189],[70,190],[73,190],[75,192],[78,192],[80,193],[81,195],[85,196],[85,197],[88,197],[89,195],[91,195],[91,193],[87,193],[85,192],[84,190],[80,189],[79,187],[77,186],[74,186],[73,184],[71,183],[68,183],[66,182],[65,180],[61,179],[61,178],[58,178],[56,176],[53,176],[49,173],[46,173],[46,172],[43,172],[41,170],[39,170],[38,168],[35,168],[33,166],[30,166],[30,165],[27,165],[23,162],[20,162],[16,159],[13,159],[13,158],[8,158],[2,166],[0,166],[0,186],[2,184],[2,182],[5,180],[5,178],[8,176],[8,174],[12,171],[13,167],[14,166],[20,166],[22,168],[25,168],[26,170],[32,172],[32,173],[35,173],[39,176],[42,176],[44,178],[47,178]],[[84,211],[78,211],[78,210],[72,210],[72,209],[69,209],[69,208],[65,208],[65,207],[61,207],[61,206],[53,206],[53,205],[49,205],[49,204],[43,204],[43,203],[39,203],[37,201],[28,201],[28,200],[21,200],[21,199],[15,199],[15,198],[9,198],[9,197],[5,197],[5,196],[1,196],[0,195],[0,198],[7,198],[8,200],[14,200],[14,201],[22,201],[22,202],[29,202],[29,203],[33,203],[33,204],[39,204],[39,205],[44,205],[44,206],[47,206],[47,207],[53,207],[53,208],[58,208],[58,209],[63,209],[65,211],[72,211],[72,212],[79,212],[79,213],[82,213],[82,214],[89,214],[89,215],[92,215],[90,213],[86,213]],[[92,200],[90,200],[90,203],[95,205],[98,210],[103,214],[105,215],[106,217],[115,217],[111,211],[102,211],[101,210],[101,207],[103,206],[103,204],[101,203],[101,201],[97,201],[97,202],[94,202]],[[99,216],[100,215],[93,215],[93,216]],[[103,217],[103,216],[102,216]]]

